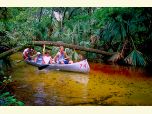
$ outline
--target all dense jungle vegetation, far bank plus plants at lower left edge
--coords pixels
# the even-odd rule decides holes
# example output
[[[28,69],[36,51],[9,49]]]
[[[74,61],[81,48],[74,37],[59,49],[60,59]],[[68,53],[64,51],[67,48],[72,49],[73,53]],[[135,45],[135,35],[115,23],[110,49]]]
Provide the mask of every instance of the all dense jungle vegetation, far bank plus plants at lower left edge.
[[[0,53],[32,41],[54,41],[116,52],[113,56],[105,56],[66,48],[76,61],[80,53],[98,62],[149,66],[152,64],[151,31],[152,8],[0,8]],[[42,51],[42,47],[34,48]],[[58,51],[55,46],[50,49],[53,56]],[[2,88],[5,88],[3,82],[11,80],[9,76],[4,77],[7,74],[2,67],[10,66],[9,57],[0,60]],[[0,104],[1,98],[9,95],[1,92]],[[13,99],[10,104],[22,105],[10,97]]]

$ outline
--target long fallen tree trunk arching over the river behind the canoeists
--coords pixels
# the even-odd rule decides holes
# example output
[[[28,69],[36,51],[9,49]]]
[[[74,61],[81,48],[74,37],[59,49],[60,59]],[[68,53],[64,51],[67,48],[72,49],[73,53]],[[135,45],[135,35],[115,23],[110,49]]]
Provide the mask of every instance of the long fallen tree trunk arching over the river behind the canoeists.
[[[101,51],[101,50],[98,50],[98,49],[86,48],[86,47],[83,47],[83,46],[77,46],[77,45],[66,44],[66,43],[61,43],[61,42],[33,41],[32,44],[33,45],[38,45],[38,46],[43,45],[43,44],[51,45],[51,46],[64,46],[66,48],[72,48],[72,49],[75,49],[75,50],[87,51],[87,52],[103,54],[103,55],[109,55],[109,56],[115,54],[115,52],[111,53],[111,52]]]

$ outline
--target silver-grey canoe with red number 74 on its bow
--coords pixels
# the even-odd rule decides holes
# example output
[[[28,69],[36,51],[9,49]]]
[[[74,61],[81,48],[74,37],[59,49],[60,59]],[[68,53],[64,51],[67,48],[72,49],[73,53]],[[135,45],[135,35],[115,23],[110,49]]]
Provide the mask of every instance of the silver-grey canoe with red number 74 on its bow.
[[[36,67],[44,66],[44,64],[37,64],[34,61],[27,60],[26,63],[31,64]],[[72,63],[72,64],[48,64],[46,69],[82,72],[82,73],[88,73],[90,71],[90,67],[89,67],[87,59],[82,60],[80,62]]]

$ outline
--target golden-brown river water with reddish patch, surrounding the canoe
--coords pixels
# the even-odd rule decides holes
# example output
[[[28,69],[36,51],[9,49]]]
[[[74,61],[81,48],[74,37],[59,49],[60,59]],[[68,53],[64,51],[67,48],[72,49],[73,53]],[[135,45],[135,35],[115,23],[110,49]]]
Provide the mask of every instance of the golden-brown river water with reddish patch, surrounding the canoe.
[[[41,70],[11,56],[14,95],[28,106],[152,105],[152,76],[143,69],[89,63],[89,74]]]

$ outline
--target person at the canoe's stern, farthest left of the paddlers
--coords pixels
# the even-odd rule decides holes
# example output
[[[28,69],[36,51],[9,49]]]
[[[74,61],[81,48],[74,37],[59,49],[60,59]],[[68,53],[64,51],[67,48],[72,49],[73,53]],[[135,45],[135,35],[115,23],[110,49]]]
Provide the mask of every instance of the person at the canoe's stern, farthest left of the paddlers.
[[[32,60],[32,55],[36,53],[36,51],[30,46],[23,51],[24,60]]]

